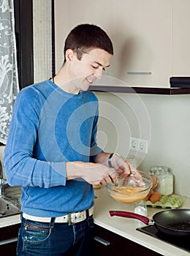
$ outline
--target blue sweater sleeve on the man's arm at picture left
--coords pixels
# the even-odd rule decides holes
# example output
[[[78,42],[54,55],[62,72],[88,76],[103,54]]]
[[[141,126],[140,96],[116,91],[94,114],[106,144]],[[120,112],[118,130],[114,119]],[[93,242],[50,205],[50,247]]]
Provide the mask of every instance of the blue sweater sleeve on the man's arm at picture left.
[[[10,186],[49,188],[66,184],[65,162],[47,162],[33,154],[41,103],[32,89],[20,91],[15,101],[4,150],[5,175]]]

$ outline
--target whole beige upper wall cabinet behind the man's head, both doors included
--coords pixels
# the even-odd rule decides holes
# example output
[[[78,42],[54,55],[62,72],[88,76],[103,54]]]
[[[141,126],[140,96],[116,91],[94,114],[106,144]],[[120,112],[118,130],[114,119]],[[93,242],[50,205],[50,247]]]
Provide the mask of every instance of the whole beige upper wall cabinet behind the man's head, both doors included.
[[[132,87],[169,89],[170,77],[189,71],[190,36],[184,39],[190,31],[189,5],[189,0],[56,0],[56,72],[69,31],[80,23],[94,23],[107,31],[114,45],[104,75]]]

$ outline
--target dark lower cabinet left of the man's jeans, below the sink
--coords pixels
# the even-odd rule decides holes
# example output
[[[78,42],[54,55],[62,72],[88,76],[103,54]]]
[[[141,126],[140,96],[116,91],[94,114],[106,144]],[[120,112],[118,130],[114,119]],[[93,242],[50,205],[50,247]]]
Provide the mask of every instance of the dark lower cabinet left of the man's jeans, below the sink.
[[[0,228],[0,252],[1,255],[15,256],[20,224]]]

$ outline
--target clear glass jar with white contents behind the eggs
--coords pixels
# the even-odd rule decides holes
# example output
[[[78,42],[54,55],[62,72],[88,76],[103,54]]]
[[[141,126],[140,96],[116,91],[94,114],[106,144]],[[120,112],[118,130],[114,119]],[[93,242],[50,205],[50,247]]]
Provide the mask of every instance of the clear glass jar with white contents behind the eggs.
[[[171,195],[173,192],[173,176],[166,166],[153,166],[150,173],[158,178],[158,184],[155,188],[161,195]]]

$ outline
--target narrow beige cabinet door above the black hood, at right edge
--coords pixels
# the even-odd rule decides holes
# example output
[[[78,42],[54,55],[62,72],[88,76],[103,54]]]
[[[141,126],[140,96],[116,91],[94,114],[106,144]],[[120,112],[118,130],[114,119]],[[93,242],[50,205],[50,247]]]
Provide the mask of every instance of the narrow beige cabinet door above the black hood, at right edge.
[[[190,1],[173,0],[172,76],[190,76]]]

